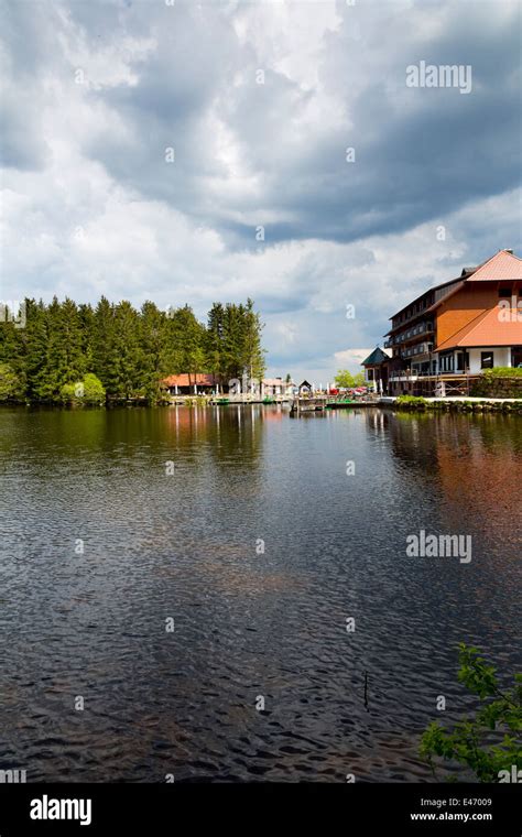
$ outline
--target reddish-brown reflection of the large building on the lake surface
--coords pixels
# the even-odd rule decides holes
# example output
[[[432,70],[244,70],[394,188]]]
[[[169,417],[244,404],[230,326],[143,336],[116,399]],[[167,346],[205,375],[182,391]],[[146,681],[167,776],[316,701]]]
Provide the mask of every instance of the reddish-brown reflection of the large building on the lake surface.
[[[487,552],[489,543],[514,567],[520,554],[519,420],[377,412],[385,415],[380,432],[390,441],[393,461],[403,464],[410,487],[417,492],[418,501],[410,496],[404,503],[404,514],[413,508],[426,515],[438,509],[446,532],[480,532],[481,547]],[[374,431],[371,413],[366,411],[365,417]],[[404,500],[400,493],[398,503]],[[418,528],[424,523],[427,520],[421,518]]]

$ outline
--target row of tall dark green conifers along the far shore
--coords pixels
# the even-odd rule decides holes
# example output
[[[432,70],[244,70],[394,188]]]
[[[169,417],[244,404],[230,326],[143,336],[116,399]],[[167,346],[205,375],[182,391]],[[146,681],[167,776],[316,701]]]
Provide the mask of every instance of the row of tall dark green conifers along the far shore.
[[[221,382],[264,373],[262,324],[253,302],[215,303],[207,324],[188,305],[161,311],[145,302],[96,306],[69,298],[25,300],[23,319],[0,323],[0,400],[59,402],[80,387],[86,400],[157,402],[168,374],[211,372]],[[24,320],[24,322],[23,322]]]

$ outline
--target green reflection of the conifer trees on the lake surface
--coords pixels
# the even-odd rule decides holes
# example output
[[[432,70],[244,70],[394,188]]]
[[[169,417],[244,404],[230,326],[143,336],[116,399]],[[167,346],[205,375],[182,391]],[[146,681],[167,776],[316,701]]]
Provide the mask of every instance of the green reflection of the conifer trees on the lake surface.
[[[23,448],[28,464],[42,463],[45,478],[68,460],[90,469],[113,471],[115,466],[162,469],[167,459],[183,459],[193,469],[215,463],[236,461],[254,470],[262,455],[265,421],[280,420],[281,411],[261,405],[224,407],[115,407],[63,410],[25,407],[2,411],[0,449]]]

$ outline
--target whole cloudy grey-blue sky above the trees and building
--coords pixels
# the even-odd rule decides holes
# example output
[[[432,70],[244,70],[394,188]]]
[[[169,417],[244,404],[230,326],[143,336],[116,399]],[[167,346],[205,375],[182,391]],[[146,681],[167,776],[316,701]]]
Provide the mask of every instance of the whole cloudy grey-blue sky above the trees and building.
[[[250,296],[268,373],[317,384],[522,254],[518,2],[0,8],[2,301]]]

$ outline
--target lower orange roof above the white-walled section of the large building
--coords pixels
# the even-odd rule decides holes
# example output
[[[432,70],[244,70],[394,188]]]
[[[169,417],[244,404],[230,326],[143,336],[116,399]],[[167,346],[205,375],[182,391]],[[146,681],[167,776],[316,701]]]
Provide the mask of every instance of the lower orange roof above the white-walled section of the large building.
[[[471,323],[448,337],[436,347],[436,351],[454,349],[459,346],[521,346],[522,322],[520,309],[500,307],[481,312]],[[505,322],[508,320],[508,322]]]

